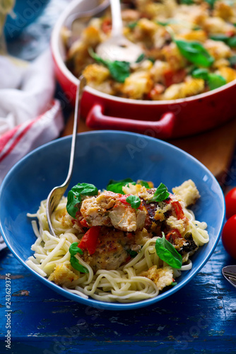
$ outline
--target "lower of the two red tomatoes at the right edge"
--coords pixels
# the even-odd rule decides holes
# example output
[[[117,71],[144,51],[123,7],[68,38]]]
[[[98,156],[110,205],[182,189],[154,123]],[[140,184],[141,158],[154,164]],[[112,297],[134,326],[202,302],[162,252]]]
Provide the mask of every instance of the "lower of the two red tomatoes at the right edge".
[[[222,243],[232,258],[236,259],[236,215],[225,222],[222,232]]]

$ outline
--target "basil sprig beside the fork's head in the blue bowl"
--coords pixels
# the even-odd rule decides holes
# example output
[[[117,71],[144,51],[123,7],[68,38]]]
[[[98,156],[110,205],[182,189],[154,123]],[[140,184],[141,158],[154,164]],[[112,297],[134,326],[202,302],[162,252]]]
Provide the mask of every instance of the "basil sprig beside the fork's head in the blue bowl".
[[[90,183],[78,183],[69,190],[67,195],[66,210],[71,217],[76,218],[78,205],[81,202],[82,195],[98,195],[98,188]]]

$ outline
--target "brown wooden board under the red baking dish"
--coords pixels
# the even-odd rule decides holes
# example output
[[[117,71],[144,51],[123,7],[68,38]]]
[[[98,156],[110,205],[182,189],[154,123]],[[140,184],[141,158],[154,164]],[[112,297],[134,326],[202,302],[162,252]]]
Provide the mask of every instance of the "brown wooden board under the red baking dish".
[[[62,136],[71,135],[72,130],[73,114],[69,117]],[[78,132],[88,132],[90,130],[85,125],[85,121],[80,120]],[[224,173],[229,169],[235,150],[236,118],[208,132],[167,141],[196,157],[218,178],[218,181],[222,182]]]

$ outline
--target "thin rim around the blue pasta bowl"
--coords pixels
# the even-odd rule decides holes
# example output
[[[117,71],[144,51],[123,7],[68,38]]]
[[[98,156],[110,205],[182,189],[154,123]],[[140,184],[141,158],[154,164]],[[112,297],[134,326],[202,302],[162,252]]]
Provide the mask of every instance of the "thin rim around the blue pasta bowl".
[[[90,135],[133,135],[135,137],[143,137],[144,139],[148,139],[151,141],[155,141],[157,144],[163,144],[165,147],[168,147],[169,149],[174,149],[177,152],[180,152],[182,154],[184,154],[185,156],[187,156],[187,159],[191,159],[192,161],[194,161],[195,164],[197,164],[201,169],[203,169],[203,171],[205,171],[208,176],[211,177],[211,181],[213,181],[215,183],[215,185],[218,188],[218,195],[220,196],[220,200],[222,200],[223,202],[223,213],[221,215],[221,221],[220,221],[220,227],[218,230],[218,236],[216,236],[216,239],[213,243],[213,246],[211,248],[210,251],[208,251],[206,258],[203,260],[203,262],[199,263],[199,265],[197,265],[196,269],[194,270],[194,272],[191,274],[191,276],[189,275],[189,273],[187,273],[186,277],[184,277],[184,279],[182,279],[182,281],[180,283],[178,283],[175,287],[172,287],[172,289],[167,290],[166,292],[163,292],[162,294],[158,295],[157,297],[153,297],[151,299],[144,299],[141,300],[139,302],[129,302],[129,303],[119,303],[119,302],[102,302],[100,300],[95,300],[93,298],[88,298],[88,299],[83,299],[82,297],[78,297],[78,295],[75,294],[71,294],[70,292],[67,292],[66,290],[64,290],[62,287],[60,287],[59,285],[54,284],[54,282],[50,282],[47,278],[42,277],[42,275],[40,275],[39,273],[37,273],[35,270],[33,270],[32,268],[29,267],[29,265],[27,265],[25,263],[25,261],[20,258],[20,256],[18,256],[18,254],[16,254],[16,251],[13,249],[13,247],[11,247],[11,244],[9,244],[8,242],[8,236],[7,234],[5,234],[4,231],[4,223],[1,222],[1,210],[0,210],[0,232],[2,234],[2,236],[4,237],[4,241],[6,242],[8,248],[10,249],[10,251],[13,253],[13,255],[18,259],[18,261],[20,261],[20,263],[22,263],[25,268],[30,271],[30,273],[33,273],[33,275],[36,276],[37,280],[40,280],[41,282],[43,282],[45,285],[47,285],[48,287],[50,287],[52,290],[58,292],[60,295],[63,295],[64,297],[67,297],[69,299],[72,299],[73,301],[82,303],[82,304],[86,304],[88,306],[91,307],[95,307],[98,309],[109,309],[109,310],[130,310],[130,309],[138,309],[141,307],[146,307],[152,304],[155,304],[157,302],[159,302],[161,299],[165,299],[165,297],[169,297],[170,295],[173,295],[175,292],[177,292],[178,290],[180,290],[182,287],[184,287],[184,285],[187,285],[187,283],[194,278],[194,276],[199,273],[199,270],[201,270],[201,268],[203,268],[203,266],[206,264],[206,262],[209,260],[209,258],[211,258],[211,255],[213,254],[213,251],[216,249],[216,246],[218,244],[218,241],[220,239],[220,234],[222,232],[223,229],[223,224],[224,224],[224,219],[225,219],[225,199],[224,199],[224,195],[223,195],[223,190],[220,188],[220,185],[218,183],[218,181],[216,180],[215,176],[213,176],[213,174],[211,173],[211,171],[209,171],[206,166],[204,166],[203,164],[201,164],[201,162],[199,160],[197,160],[194,156],[191,156],[190,154],[188,154],[187,152],[184,152],[184,150],[179,149],[178,147],[175,147],[174,145],[168,143],[168,142],[164,142],[163,140],[160,139],[156,139],[153,137],[149,137],[146,135],[141,135],[138,133],[134,133],[134,132],[123,132],[123,131],[114,131],[114,130],[100,130],[100,131],[92,131],[92,132],[82,132],[82,133],[78,133],[78,135],[85,135],[85,136],[90,136]],[[50,146],[52,144],[63,144],[63,142],[65,140],[69,140],[71,139],[71,135],[66,136],[66,137],[61,137],[59,139],[55,139],[52,142],[48,142],[47,144],[43,144],[41,147],[37,147],[37,149],[33,150],[33,152],[28,153],[26,156],[23,157],[23,159],[20,159],[20,161],[18,161],[12,168],[10,171],[8,171],[8,173],[6,174],[4,181],[1,183],[0,185],[0,200],[1,200],[1,194],[3,193],[3,190],[5,188],[5,185],[8,181],[8,178],[11,177],[11,175],[14,173],[14,171],[16,169],[18,169],[18,166],[20,166],[21,164],[24,164],[24,161],[26,159],[29,159],[31,156],[33,156],[34,154],[37,154],[37,152],[43,150],[43,149],[49,149]]]

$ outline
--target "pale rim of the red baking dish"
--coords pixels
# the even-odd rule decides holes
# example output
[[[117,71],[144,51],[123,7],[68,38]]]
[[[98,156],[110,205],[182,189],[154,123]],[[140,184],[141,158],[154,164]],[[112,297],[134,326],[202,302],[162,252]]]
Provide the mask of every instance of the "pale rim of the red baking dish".
[[[54,25],[54,28],[52,30],[52,36],[51,36],[51,49],[52,49],[52,56],[54,57],[54,62],[59,68],[59,70],[64,74],[66,79],[68,79],[71,84],[75,85],[76,87],[78,86],[78,79],[76,76],[74,76],[70,70],[66,67],[66,64],[64,63],[64,60],[62,59],[60,50],[59,50],[59,42],[61,41],[61,27],[64,25],[66,18],[73,13],[74,8],[76,8],[79,4],[83,3],[85,0],[73,0],[71,3],[66,6],[65,11],[61,13],[61,16],[59,16],[56,24]],[[207,98],[208,96],[213,96],[214,94],[220,93],[221,91],[225,91],[227,89],[230,89],[232,86],[236,86],[236,79],[229,82],[228,84],[225,84],[218,89],[214,89],[213,91],[208,91],[205,93],[200,93],[199,95],[196,96],[190,96],[187,98],[178,98],[176,100],[163,100],[163,101],[145,101],[145,100],[135,100],[134,98],[122,98],[122,97],[117,97],[117,96],[112,96],[109,95],[108,93],[103,93],[102,91],[98,91],[96,89],[93,89],[90,86],[85,86],[85,91],[88,93],[92,94],[93,96],[98,96],[100,98],[109,100],[109,101],[116,101],[119,103],[130,103],[130,104],[136,104],[136,105],[175,105],[177,103],[187,103],[191,101],[197,101],[202,98]]]

